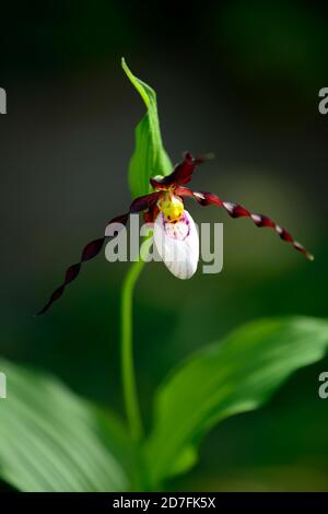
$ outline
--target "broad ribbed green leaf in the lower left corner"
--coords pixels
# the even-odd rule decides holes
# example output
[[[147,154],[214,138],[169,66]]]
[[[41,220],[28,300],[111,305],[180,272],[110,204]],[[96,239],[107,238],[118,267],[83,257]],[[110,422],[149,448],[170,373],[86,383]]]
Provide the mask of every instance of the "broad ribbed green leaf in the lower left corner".
[[[0,361],[0,476],[21,491],[122,491],[124,430],[57,379]]]

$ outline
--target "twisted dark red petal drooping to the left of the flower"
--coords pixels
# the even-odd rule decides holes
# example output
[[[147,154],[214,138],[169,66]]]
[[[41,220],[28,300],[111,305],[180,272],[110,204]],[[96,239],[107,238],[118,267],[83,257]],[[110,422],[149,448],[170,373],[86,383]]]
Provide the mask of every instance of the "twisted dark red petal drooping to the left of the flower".
[[[143,211],[145,209],[149,209],[150,207],[152,207],[153,205],[156,203],[159,195],[160,195],[159,192],[152,192],[150,195],[145,195],[143,197],[136,198],[136,200],[133,200],[131,206],[130,206],[129,212],[127,212],[125,214],[121,214],[121,215],[118,215],[116,218],[113,218],[108,222],[107,226],[113,224],[113,223],[120,223],[122,225],[126,225],[127,222],[128,222],[130,213],[140,212],[140,211]],[[92,241],[91,243],[89,243],[83,248],[80,261],[72,265],[72,266],[70,266],[67,269],[67,271],[65,273],[65,279],[63,279],[62,284],[59,285],[59,288],[57,288],[54,291],[54,293],[49,297],[48,303],[37,313],[37,315],[46,313],[48,311],[48,308],[52,305],[52,303],[62,295],[66,287],[70,282],[72,282],[72,280],[74,280],[78,277],[78,274],[80,273],[82,264],[86,262],[90,259],[93,259],[94,257],[96,257],[99,254],[101,249],[103,248],[105,240],[106,240],[106,235],[104,235],[103,237],[99,237],[98,240]]]

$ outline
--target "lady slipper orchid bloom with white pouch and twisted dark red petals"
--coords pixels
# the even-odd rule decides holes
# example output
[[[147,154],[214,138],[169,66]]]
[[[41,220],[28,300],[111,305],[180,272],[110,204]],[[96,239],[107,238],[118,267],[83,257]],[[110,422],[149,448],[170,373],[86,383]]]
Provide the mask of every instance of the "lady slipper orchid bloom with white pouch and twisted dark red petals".
[[[126,225],[132,213],[143,212],[144,221],[154,224],[154,244],[169,271],[179,279],[191,278],[199,260],[199,238],[194,220],[185,209],[184,199],[187,197],[194,198],[200,206],[222,207],[232,218],[250,218],[256,226],[269,226],[278,233],[282,241],[293,245],[309,260],[314,259],[313,255],[297,243],[285,229],[274,223],[270,218],[253,213],[237,203],[223,201],[212,192],[192,191],[185,187],[191,180],[195,167],[203,163],[206,159],[195,159],[191,153],[186,152],[184,160],[175,166],[169,175],[151,178],[150,183],[155,189],[154,192],[136,198],[127,213],[108,222],[103,237],[92,241],[84,247],[81,260],[68,268],[63,283],[56,289],[38,314],[44,314],[55,300],[61,296],[65,288],[78,277],[83,262],[98,255],[109,235],[109,226],[113,223]]]

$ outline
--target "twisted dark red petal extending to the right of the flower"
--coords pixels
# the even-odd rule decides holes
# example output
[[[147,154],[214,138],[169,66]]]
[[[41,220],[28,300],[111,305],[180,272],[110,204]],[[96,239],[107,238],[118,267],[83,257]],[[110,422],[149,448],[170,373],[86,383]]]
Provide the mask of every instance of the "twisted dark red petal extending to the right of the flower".
[[[297,252],[301,252],[309,260],[314,259],[314,256],[309,254],[304,246],[302,246],[293,236],[282,226],[278,225],[274,221],[263,214],[258,214],[248,211],[245,207],[239,206],[238,203],[233,203],[231,201],[223,201],[216,195],[206,191],[191,191],[187,187],[179,187],[175,190],[176,195],[180,197],[194,197],[198,203],[201,206],[216,205],[218,207],[223,207],[226,210],[229,215],[232,218],[250,218],[256,226],[269,226],[273,229],[279,237],[286,243],[290,243]]]

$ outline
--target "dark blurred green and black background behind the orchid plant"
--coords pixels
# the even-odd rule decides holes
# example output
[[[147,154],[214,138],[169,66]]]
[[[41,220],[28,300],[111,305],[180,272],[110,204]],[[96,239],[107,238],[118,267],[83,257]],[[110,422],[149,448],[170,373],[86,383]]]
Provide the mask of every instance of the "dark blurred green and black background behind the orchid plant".
[[[104,256],[44,317],[33,318],[86,242],[130,201],[127,165],[144,108],[120,69],[157,92],[163,139],[215,153],[196,174],[268,213],[314,252],[307,262],[271,231],[224,222],[224,270],[177,281],[150,264],[136,291],[136,365],[148,427],[156,385],[177,361],[259,316],[327,316],[328,9],[295,0],[46,1],[1,4],[0,353],[60,376],[121,412],[119,291],[127,264]],[[204,441],[172,489],[328,490],[328,360],[300,371],[263,409]],[[0,405],[1,408],[1,405]]]

